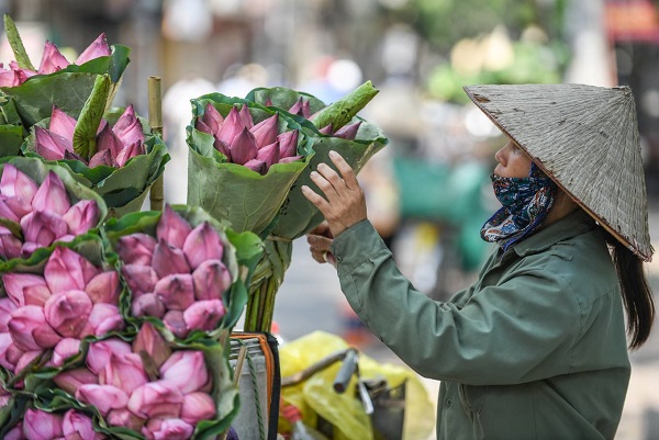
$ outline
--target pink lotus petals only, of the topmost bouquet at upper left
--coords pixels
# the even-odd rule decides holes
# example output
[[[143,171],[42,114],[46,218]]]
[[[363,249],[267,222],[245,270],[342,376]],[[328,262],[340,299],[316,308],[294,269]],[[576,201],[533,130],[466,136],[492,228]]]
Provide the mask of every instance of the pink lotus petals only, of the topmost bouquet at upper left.
[[[91,61],[98,57],[110,56],[111,50],[108,45],[105,34],[102,33],[94,40],[76,59],[75,65],[81,66],[85,63]],[[48,41],[44,44],[38,69],[34,70],[30,67],[21,67],[16,61],[10,61],[9,69],[0,63],[0,87],[16,87],[21,86],[27,78],[35,75],[49,75],[58,70],[66,69],[71,63],[66,59],[59,52],[57,46]]]

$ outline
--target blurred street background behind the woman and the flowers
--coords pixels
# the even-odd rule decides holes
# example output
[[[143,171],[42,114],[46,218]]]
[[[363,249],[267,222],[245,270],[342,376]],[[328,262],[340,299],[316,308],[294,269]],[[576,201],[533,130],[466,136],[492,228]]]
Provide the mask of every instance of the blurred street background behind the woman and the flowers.
[[[45,40],[68,59],[101,32],[131,47],[116,105],[146,115],[147,78],[163,79],[170,203],[186,203],[191,98],[286,86],[330,103],[371,80],[380,93],[360,115],[390,144],[360,173],[369,215],[403,272],[437,300],[473,279],[491,249],[480,226],[496,208],[489,174],[503,140],[465,84],[629,84],[659,244],[658,11],[657,0],[0,0],[35,61]],[[12,59],[2,36],[0,61]],[[659,263],[647,269],[659,292]],[[275,320],[284,340],[325,330],[400,363],[355,320],[334,269],[304,240]],[[658,331],[633,353],[618,439],[659,439]],[[435,400],[438,384],[426,384]]]

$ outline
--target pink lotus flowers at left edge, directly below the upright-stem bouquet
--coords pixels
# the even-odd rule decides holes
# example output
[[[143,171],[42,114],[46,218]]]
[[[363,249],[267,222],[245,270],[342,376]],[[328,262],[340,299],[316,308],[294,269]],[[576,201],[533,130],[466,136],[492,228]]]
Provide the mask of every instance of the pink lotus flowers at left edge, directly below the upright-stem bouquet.
[[[45,178],[40,183],[16,166],[34,177],[45,173]],[[105,207],[102,201],[59,170],[68,182],[65,185],[55,169],[27,158],[16,158],[2,166],[0,257],[5,260],[27,258],[36,249],[55,241],[70,241],[103,219]],[[88,199],[76,200],[74,190]]]

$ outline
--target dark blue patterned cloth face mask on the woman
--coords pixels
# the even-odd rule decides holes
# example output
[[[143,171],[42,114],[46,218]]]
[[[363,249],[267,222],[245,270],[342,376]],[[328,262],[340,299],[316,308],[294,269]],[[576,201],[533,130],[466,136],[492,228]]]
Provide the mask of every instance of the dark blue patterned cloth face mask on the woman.
[[[492,174],[494,195],[503,205],[481,228],[481,238],[503,250],[533,234],[545,221],[556,194],[556,183],[534,162],[527,178]]]

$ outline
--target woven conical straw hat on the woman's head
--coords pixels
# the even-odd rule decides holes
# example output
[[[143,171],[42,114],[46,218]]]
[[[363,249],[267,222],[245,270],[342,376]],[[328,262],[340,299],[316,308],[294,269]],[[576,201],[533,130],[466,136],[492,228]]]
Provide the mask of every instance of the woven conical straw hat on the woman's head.
[[[470,86],[465,91],[600,225],[650,261],[640,136],[628,87]]]

